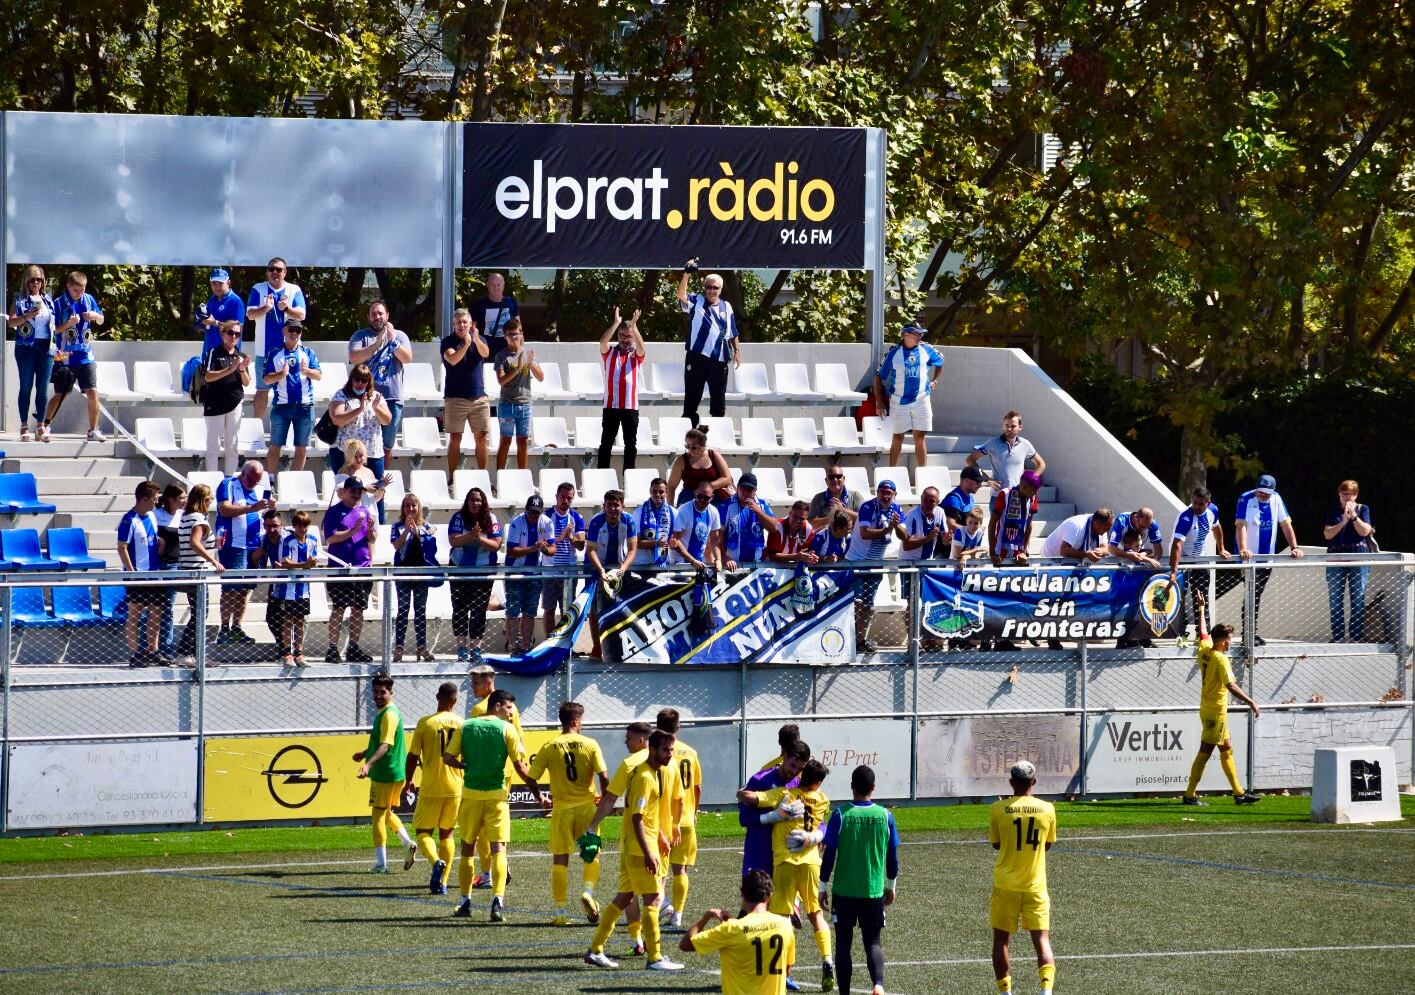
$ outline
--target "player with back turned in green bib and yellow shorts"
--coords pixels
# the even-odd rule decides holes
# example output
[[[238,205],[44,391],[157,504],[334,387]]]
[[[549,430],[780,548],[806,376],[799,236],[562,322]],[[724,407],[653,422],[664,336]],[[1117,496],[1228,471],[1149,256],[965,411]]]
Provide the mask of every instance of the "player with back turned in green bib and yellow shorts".
[[[453,733],[443,752],[443,760],[463,771],[461,805],[457,827],[461,831],[461,862],[457,866],[457,886],[461,904],[454,916],[471,916],[471,855],[477,839],[487,836],[491,851],[491,921],[505,919],[507,844],[511,842],[511,778],[507,761],[516,776],[532,787],[539,787],[526,769],[525,747],[511,725],[515,695],[492,691],[487,698],[487,715],[467,719]]]

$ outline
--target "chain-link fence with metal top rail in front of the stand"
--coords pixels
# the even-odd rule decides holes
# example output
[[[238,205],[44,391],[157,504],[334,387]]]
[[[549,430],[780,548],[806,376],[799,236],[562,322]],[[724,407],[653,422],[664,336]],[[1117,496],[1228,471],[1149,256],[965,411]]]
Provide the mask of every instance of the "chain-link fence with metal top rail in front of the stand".
[[[766,650],[726,665],[603,662],[587,655],[586,624],[546,672],[501,672],[498,686],[516,695],[528,730],[556,726],[559,703],[579,701],[586,727],[610,757],[620,752],[627,722],[676,708],[685,739],[710,753],[720,781],[708,793],[710,803],[730,801],[729,788],[775,754],[782,723],[799,725],[802,737],[833,766],[876,766],[882,793],[893,798],[985,797],[1016,756],[1037,761],[1043,788],[1051,793],[1167,791],[1182,787],[1174,771],[1187,770],[1197,743],[1193,592],[1201,589],[1208,624],[1232,626],[1235,678],[1262,706],[1252,720],[1242,709],[1231,713],[1247,783],[1305,787],[1313,746],[1367,742],[1395,746],[1399,780],[1411,780],[1415,558],[1184,565],[1183,596],[1149,604],[1155,619],[1148,620],[1149,585],[1163,573],[1058,563],[923,568],[862,565],[880,585],[867,606],[838,611],[842,638],[853,633],[857,647],[846,648],[842,662],[763,662],[781,660]],[[842,565],[831,569],[848,572]],[[535,575],[559,585],[572,570],[543,568]],[[781,575],[790,582],[788,572]],[[1043,575],[1084,583],[1065,580],[1057,596],[1009,594]],[[354,576],[366,585],[358,597],[335,593]],[[211,814],[202,797],[215,740],[266,737],[279,746],[284,739],[366,735],[374,712],[369,681],[379,671],[396,678],[409,725],[433,709],[441,682],[457,684],[470,698],[468,667],[478,654],[504,651],[508,587],[528,576],[505,568],[415,573],[376,566],[358,575],[7,575],[0,583],[4,825],[31,825],[11,803],[33,773],[38,747],[185,744],[195,757],[195,814],[156,821],[200,822]],[[934,586],[935,576],[942,586]],[[993,580],[985,580],[989,576]],[[273,582],[307,582],[308,613],[291,619],[282,610],[282,599],[270,597]],[[848,579],[836,582],[850,586]],[[461,620],[453,617],[457,583],[485,590],[485,600],[471,603],[474,620],[461,594]],[[1124,626],[1082,621],[1088,611],[1095,617],[1091,592],[1124,585],[1143,586]],[[974,596],[983,607],[975,607]],[[364,597],[364,624],[351,627]],[[417,619],[424,597],[426,630]],[[542,607],[536,600],[532,611],[543,616]],[[603,603],[583,609],[597,623]],[[556,621],[559,613],[550,624]],[[794,624],[809,627],[809,613],[801,611]],[[291,627],[303,627],[304,665],[290,652]],[[536,623],[538,643],[545,627]],[[259,773],[269,781],[280,770],[272,761]]]

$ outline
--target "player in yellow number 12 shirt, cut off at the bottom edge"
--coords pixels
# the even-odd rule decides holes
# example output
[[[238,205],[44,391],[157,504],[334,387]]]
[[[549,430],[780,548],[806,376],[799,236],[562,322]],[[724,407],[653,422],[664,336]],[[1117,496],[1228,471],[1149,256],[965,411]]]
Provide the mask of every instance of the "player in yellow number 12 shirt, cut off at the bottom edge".
[[[741,914],[709,909],[678,943],[689,954],[717,951],[723,995],[785,995],[795,933],[791,920],[767,910],[771,897],[771,876],[749,870],[741,876]],[[706,928],[715,919],[717,926]]]

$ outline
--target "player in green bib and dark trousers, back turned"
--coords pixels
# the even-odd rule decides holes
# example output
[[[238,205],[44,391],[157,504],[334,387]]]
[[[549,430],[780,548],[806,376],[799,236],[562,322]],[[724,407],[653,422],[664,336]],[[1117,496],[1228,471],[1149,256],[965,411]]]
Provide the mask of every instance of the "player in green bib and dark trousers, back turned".
[[[836,808],[825,827],[819,900],[835,917],[835,971],[841,991],[850,991],[850,975],[855,972],[850,945],[859,926],[873,995],[884,995],[880,931],[884,928],[884,906],[894,903],[899,880],[899,829],[894,815],[874,804],[872,767],[860,764],[850,773],[850,804]],[[826,892],[832,892],[829,904]]]

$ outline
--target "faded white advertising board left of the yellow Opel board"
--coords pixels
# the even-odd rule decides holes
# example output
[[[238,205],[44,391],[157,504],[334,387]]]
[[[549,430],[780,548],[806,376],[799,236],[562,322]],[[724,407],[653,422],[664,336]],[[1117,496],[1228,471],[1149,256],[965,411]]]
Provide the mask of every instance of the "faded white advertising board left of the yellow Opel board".
[[[11,829],[194,822],[197,743],[20,743],[6,795]]]

